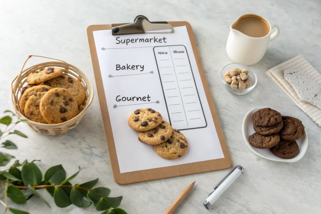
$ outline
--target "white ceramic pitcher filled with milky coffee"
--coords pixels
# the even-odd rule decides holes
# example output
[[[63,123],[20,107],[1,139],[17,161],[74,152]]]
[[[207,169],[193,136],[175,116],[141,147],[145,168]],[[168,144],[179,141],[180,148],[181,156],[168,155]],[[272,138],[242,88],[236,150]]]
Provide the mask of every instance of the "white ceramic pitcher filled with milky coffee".
[[[233,29],[233,26],[235,26],[241,19],[247,17],[258,18],[264,21],[269,27],[268,34],[263,37],[250,37],[239,30]],[[271,35],[273,28],[276,28],[276,30]],[[256,64],[263,58],[269,42],[274,40],[279,33],[279,26],[275,24],[271,25],[265,18],[256,14],[244,14],[230,26],[230,34],[227,39],[226,52],[231,60],[233,60],[235,63],[241,63],[245,65]]]

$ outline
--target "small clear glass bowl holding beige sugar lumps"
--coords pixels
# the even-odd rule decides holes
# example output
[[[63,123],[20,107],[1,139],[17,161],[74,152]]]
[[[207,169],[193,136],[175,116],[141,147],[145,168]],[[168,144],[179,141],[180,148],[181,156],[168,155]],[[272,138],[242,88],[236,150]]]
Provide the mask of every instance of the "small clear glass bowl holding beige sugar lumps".
[[[250,79],[252,81],[251,87],[249,87],[247,89],[235,89],[235,88],[232,88],[229,83],[225,82],[224,75],[226,74],[226,72],[233,70],[235,68],[238,68],[240,70],[242,70],[242,69],[248,70],[248,75],[250,76]],[[250,92],[252,89],[254,89],[254,87],[256,86],[256,83],[257,83],[256,74],[254,73],[254,71],[252,69],[250,69],[249,67],[247,67],[246,65],[239,64],[239,63],[232,63],[232,64],[226,65],[222,69],[221,79],[222,79],[222,83],[223,83],[224,87],[228,91],[230,91],[232,94],[236,94],[236,95],[242,95],[242,94],[246,94],[246,93]]]

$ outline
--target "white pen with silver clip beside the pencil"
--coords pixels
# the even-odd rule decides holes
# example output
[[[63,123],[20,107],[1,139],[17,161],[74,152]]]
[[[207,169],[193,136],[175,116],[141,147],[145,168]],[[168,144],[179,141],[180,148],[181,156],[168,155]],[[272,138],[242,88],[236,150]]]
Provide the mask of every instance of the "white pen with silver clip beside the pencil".
[[[203,203],[204,207],[208,209],[224,192],[229,186],[243,174],[244,168],[242,166],[234,167],[223,179],[214,186],[213,192],[208,195],[208,198]]]

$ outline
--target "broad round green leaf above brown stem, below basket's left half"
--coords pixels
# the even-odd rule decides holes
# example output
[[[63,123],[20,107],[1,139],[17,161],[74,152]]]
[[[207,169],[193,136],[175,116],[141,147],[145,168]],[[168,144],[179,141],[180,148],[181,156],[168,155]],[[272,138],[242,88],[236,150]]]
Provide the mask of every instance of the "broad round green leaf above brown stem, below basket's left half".
[[[36,164],[30,163],[22,167],[21,177],[25,186],[35,186],[41,182],[42,173]]]

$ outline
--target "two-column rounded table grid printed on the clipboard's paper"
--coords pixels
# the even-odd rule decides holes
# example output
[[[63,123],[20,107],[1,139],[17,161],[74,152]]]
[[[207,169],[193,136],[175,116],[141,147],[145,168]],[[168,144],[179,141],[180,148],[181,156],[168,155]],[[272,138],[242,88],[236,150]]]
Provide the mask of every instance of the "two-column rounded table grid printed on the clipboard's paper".
[[[207,126],[184,45],[154,47],[170,124],[178,130]]]

